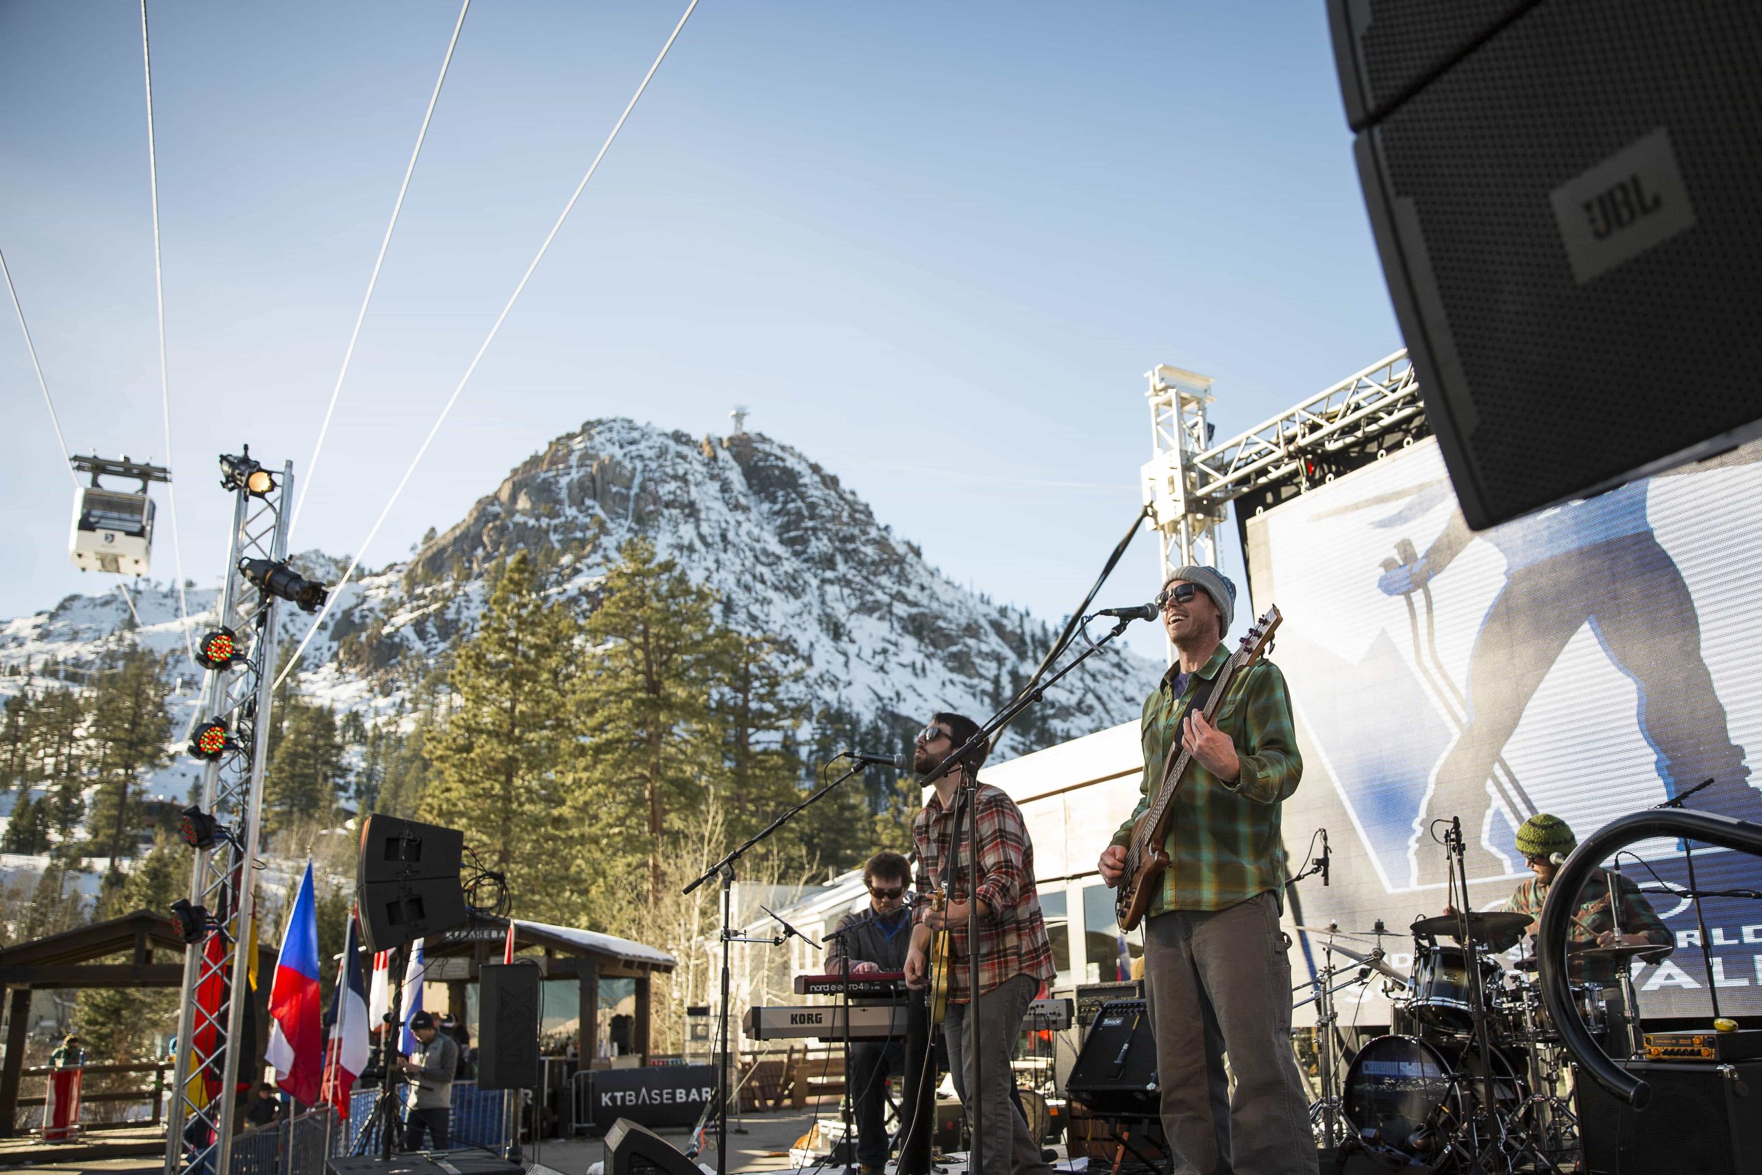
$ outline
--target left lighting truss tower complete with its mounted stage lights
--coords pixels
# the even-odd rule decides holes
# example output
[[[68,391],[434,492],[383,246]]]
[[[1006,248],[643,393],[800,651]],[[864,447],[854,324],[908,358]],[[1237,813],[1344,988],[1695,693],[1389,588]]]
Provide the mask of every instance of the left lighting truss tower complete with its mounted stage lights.
[[[203,636],[203,692],[196,703],[201,724],[190,731],[190,752],[201,759],[201,782],[192,807],[183,810],[180,833],[192,846],[192,881],[187,900],[173,916],[190,942],[178,1011],[178,1055],[171,1082],[166,1170],[224,1171],[233,1159],[238,1108],[231,1097],[206,1097],[211,1075],[218,1087],[248,1080],[255,1064],[248,1043],[238,1038],[250,985],[243,942],[255,916],[257,842],[263,824],[263,766],[273,699],[273,636],[282,601],[310,587],[287,569],[287,511],[292,467],[266,470],[248,449],[220,458],[222,484],[233,495],[229,574],[215,601],[210,631]],[[257,569],[257,576],[250,574]],[[277,590],[284,588],[284,590]],[[319,588],[322,592],[322,588]],[[301,602],[294,599],[294,602]],[[229,990],[218,1006],[199,992]],[[185,1140],[208,1140],[185,1145]]]

